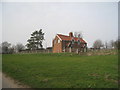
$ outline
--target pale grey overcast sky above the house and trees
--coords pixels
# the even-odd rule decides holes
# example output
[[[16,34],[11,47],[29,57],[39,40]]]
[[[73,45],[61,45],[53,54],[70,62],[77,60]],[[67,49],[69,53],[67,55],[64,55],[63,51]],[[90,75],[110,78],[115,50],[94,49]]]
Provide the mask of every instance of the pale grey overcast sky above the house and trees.
[[[1,7],[1,4],[0,4]],[[2,41],[27,43],[30,34],[43,29],[44,47],[52,46],[56,34],[81,31],[91,47],[118,37],[117,2],[3,2]]]

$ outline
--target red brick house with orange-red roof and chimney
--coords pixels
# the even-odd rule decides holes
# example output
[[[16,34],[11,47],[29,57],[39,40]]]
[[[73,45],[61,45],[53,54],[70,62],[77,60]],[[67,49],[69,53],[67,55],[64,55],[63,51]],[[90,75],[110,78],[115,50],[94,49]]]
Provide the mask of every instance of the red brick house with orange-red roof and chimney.
[[[53,39],[53,53],[62,52],[86,52],[87,43],[82,38],[77,38],[73,36],[70,32],[69,36],[57,34]]]

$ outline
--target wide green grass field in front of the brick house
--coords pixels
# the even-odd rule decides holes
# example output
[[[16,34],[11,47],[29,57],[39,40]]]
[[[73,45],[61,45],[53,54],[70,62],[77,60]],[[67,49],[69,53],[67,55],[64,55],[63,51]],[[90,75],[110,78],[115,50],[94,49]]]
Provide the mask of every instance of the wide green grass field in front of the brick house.
[[[118,88],[118,56],[3,55],[3,72],[32,88]]]

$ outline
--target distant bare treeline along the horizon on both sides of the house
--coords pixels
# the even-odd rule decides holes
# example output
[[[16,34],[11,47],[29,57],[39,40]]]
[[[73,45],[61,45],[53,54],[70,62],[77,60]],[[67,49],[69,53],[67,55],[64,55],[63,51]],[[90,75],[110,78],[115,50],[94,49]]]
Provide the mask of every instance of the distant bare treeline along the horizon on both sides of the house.
[[[93,47],[88,48],[88,50],[100,50],[100,49],[120,49],[120,39],[116,41],[109,41],[103,43],[101,40],[95,40],[93,43]],[[12,53],[37,53],[37,52],[52,52],[52,47],[45,48],[37,48],[37,49],[29,49],[26,45],[22,43],[18,43],[16,45],[12,45],[7,41],[2,42],[0,44],[0,53],[2,54],[12,54]]]

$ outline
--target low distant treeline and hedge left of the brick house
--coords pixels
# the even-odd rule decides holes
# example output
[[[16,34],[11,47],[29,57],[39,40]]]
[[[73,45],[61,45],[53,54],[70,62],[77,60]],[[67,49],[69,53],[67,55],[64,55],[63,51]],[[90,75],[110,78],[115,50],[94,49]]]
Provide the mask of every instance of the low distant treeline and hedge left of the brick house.
[[[2,42],[0,44],[0,53],[2,54],[12,54],[12,53],[24,53],[24,52],[52,52],[52,47],[45,48],[38,48],[36,50],[31,50],[27,48],[22,43],[18,43],[16,45],[12,45],[11,43],[8,43],[7,41]]]

